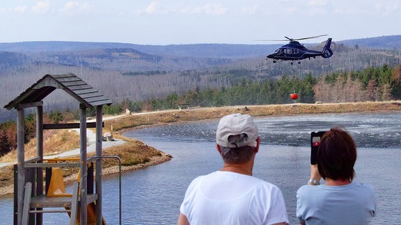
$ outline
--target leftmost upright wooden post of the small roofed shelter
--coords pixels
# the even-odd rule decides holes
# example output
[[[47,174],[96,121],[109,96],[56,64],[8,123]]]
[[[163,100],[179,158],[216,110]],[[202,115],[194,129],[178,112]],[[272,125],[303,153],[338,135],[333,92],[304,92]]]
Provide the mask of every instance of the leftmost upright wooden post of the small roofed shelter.
[[[24,144],[25,144],[25,121],[24,108],[17,108],[17,224],[22,223],[22,210],[24,206],[24,186],[25,186],[25,171],[24,171]]]

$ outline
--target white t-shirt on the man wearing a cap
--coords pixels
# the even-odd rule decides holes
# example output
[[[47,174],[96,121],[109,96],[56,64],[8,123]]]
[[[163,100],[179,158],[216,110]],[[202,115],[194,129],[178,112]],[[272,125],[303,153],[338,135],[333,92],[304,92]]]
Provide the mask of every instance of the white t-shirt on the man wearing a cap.
[[[180,212],[197,224],[288,224],[281,190],[253,176],[213,172],[191,182]]]

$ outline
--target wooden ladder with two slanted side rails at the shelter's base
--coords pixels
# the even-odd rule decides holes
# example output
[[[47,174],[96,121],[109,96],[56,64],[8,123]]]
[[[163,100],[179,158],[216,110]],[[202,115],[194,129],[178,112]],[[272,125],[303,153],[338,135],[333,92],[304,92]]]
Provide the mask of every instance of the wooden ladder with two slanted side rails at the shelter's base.
[[[29,224],[29,213],[70,213],[70,225],[74,225],[77,222],[77,211],[78,211],[78,200],[79,200],[79,183],[77,181],[74,182],[72,186],[72,199],[68,204],[68,207],[65,207],[65,210],[31,210],[31,192],[32,192],[32,183],[27,182],[25,184],[25,195],[24,195],[24,208],[22,210],[22,225]],[[65,206],[65,205],[64,205]],[[56,206],[48,206],[49,208]],[[70,209],[67,209],[70,208]]]

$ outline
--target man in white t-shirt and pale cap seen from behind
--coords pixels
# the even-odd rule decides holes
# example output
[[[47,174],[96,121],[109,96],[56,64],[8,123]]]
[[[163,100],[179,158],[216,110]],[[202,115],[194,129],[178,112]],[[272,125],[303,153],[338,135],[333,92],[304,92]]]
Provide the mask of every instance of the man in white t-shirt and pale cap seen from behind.
[[[281,190],[252,176],[260,143],[252,117],[221,118],[216,140],[223,168],[191,182],[178,224],[288,224]]]

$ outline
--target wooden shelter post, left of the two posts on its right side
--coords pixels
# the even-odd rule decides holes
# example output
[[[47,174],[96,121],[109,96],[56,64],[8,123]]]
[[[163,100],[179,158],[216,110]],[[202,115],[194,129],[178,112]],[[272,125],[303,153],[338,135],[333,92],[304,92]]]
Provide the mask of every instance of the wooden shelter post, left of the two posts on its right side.
[[[79,104],[79,131],[80,131],[80,139],[79,139],[79,145],[80,145],[80,160],[81,160],[81,181],[79,182],[79,187],[81,188],[81,215],[80,215],[80,223],[81,224],[87,224],[87,206],[88,204],[86,203],[86,196],[87,196],[87,176],[88,173],[86,172],[87,170],[87,163],[86,163],[86,106],[84,104]]]

